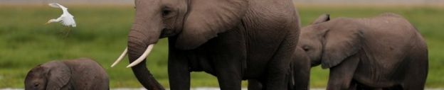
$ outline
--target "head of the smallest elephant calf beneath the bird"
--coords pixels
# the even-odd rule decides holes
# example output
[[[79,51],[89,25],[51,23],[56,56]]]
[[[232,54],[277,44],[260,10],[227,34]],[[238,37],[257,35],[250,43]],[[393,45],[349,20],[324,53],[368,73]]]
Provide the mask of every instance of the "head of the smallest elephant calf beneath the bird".
[[[25,79],[26,90],[59,90],[70,80],[70,68],[63,62],[48,62],[38,65],[28,72]]]

